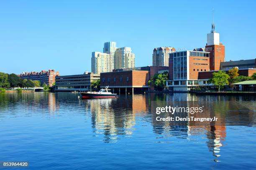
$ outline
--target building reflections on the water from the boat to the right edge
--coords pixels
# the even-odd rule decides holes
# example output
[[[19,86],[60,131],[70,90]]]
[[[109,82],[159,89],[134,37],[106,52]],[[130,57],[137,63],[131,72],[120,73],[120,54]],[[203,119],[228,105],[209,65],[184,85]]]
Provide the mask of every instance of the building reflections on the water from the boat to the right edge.
[[[151,122],[156,138],[172,138],[205,141],[209,153],[215,162],[220,161],[221,150],[225,146],[226,126],[252,123],[253,105],[241,103],[241,98],[222,96],[197,96],[186,93],[133,95],[114,99],[83,100],[87,102],[92,114],[92,129],[96,134],[104,135],[104,142],[116,142],[123,137],[131,137],[136,122]],[[239,101],[239,102],[236,102]],[[205,105],[202,115],[195,117],[218,117],[216,122],[195,121],[156,121],[156,107],[165,106],[200,107]],[[162,117],[169,116],[163,113]],[[187,115],[179,115],[189,117]],[[136,119],[138,117],[138,119]],[[141,123],[140,122],[140,123]],[[204,139],[207,140],[204,140]],[[201,141],[200,140],[200,141]]]

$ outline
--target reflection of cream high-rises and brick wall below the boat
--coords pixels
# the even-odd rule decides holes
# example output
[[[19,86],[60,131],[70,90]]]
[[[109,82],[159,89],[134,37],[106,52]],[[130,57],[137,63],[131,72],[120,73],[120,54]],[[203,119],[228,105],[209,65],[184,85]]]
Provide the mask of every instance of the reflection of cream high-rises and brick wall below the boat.
[[[84,100],[90,103],[92,129],[104,134],[105,142],[116,142],[119,135],[130,137],[135,130],[136,115],[146,113],[145,96],[126,96],[123,100],[122,97]]]

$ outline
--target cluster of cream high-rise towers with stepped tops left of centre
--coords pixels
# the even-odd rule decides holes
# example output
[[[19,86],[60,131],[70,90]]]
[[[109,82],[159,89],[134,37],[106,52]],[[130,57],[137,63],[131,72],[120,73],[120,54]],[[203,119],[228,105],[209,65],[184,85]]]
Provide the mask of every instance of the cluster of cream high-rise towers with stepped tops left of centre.
[[[92,72],[112,72],[113,69],[135,66],[131,47],[116,47],[116,42],[105,42],[103,52],[92,52]]]

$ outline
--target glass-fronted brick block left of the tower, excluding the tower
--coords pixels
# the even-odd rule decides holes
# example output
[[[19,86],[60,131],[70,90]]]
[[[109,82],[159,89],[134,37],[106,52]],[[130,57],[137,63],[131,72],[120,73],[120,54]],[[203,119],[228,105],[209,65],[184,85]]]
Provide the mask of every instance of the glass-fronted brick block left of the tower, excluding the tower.
[[[169,90],[190,90],[198,85],[198,73],[210,70],[210,52],[187,50],[169,55]]]

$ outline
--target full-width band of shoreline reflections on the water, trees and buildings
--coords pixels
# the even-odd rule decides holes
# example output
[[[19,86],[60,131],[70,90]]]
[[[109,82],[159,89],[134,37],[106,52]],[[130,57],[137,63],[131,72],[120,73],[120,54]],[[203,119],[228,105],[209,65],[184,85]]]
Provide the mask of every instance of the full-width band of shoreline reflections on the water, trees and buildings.
[[[143,136],[150,140],[166,143],[175,139],[188,142],[203,142],[220,161],[221,148],[225,145],[227,125],[255,125],[256,98],[254,96],[197,96],[187,93],[146,95],[121,95],[119,98],[79,100],[72,93],[6,93],[0,94],[0,120],[10,115],[33,116],[83,115],[89,119],[94,136],[102,136],[104,143],[117,143],[121,138],[134,138],[136,130],[150,126],[152,133]],[[170,122],[156,121],[156,107],[179,105],[184,107],[205,106],[204,116],[219,118],[217,122]],[[25,112],[25,110],[28,110]],[[169,113],[163,113],[163,117]],[[182,115],[181,115],[182,116]],[[188,115],[183,115],[189,116]],[[194,116],[198,116],[195,114]]]

